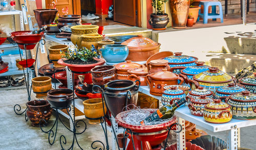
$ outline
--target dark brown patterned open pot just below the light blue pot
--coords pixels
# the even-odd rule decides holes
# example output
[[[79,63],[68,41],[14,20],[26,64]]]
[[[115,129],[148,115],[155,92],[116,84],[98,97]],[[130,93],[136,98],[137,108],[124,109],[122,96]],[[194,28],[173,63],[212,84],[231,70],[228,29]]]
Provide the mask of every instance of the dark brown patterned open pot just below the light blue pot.
[[[116,80],[116,67],[115,66],[96,66],[91,69],[92,81],[94,85],[104,85],[110,81]]]

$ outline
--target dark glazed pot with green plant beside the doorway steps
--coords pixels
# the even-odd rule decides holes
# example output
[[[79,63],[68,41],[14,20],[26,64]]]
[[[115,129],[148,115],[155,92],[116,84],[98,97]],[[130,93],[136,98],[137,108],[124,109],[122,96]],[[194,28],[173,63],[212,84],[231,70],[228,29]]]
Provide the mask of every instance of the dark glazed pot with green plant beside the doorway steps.
[[[153,27],[153,30],[165,30],[169,22],[168,14],[162,11],[163,5],[167,0],[153,0],[152,7],[155,8],[155,13],[150,15],[148,22]]]

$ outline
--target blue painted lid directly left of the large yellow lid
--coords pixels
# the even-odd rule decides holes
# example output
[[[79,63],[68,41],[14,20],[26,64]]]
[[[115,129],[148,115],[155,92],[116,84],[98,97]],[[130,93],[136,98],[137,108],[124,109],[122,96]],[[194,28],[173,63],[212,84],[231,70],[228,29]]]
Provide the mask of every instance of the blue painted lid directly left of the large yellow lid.
[[[204,65],[204,62],[196,62],[197,65],[194,66],[188,66],[185,69],[181,70],[181,73],[186,75],[195,75],[198,73],[201,73],[203,71],[209,70],[208,68],[210,66]]]

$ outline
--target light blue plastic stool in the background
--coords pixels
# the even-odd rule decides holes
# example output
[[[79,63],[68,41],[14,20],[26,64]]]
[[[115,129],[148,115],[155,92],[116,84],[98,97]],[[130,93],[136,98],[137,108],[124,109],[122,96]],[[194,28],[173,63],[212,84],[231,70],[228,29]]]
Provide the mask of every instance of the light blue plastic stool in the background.
[[[203,18],[203,23],[207,23],[208,19],[217,20],[217,18],[221,18],[221,23],[223,23],[223,13],[220,2],[216,1],[201,1],[199,3],[199,7],[201,5],[204,6],[204,13],[201,13],[201,9],[199,9],[197,21],[199,21],[200,17]],[[208,8],[211,6],[211,13],[208,13]],[[220,8],[220,14],[216,13],[216,6]]]

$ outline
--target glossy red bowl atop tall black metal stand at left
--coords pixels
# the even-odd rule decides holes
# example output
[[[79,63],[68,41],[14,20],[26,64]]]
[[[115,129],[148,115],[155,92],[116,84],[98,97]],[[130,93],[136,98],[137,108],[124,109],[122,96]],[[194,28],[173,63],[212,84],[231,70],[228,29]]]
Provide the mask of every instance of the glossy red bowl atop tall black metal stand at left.
[[[30,32],[31,31],[16,31],[11,33],[12,39],[18,43],[20,49],[24,49],[23,44],[31,44],[26,45],[26,49],[33,49],[44,35],[44,32],[41,32],[40,34],[28,34]]]

